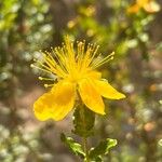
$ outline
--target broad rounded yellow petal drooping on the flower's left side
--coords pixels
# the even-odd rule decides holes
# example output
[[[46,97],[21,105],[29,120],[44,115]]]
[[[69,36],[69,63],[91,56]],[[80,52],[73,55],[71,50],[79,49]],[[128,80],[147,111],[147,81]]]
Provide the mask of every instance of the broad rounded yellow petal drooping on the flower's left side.
[[[75,85],[67,81],[58,82],[51,92],[42,95],[33,105],[36,117],[41,120],[62,120],[73,108]]]

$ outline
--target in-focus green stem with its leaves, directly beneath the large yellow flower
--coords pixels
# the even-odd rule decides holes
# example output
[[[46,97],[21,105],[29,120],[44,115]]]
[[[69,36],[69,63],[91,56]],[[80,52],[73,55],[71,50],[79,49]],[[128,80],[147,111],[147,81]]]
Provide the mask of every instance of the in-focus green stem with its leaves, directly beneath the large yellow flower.
[[[87,150],[86,137],[92,135],[92,129],[94,126],[94,112],[87,108],[78,107],[73,112],[75,133],[83,137],[83,146],[75,141],[71,137],[66,137],[65,134],[60,134],[60,139],[66,144],[69,149],[80,158],[84,159],[85,162],[103,162],[103,156],[109,153],[109,150],[117,145],[116,139],[107,138],[98,144],[95,148]],[[84,148],[84,150],[82,149]]]

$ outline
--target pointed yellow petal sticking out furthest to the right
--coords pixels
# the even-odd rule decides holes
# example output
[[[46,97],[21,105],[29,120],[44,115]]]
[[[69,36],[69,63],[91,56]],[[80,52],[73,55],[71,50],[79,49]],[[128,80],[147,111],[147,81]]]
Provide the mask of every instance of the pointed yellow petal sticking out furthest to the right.
[[[124,94],[118,92],[107,81],[95,80],[93,83],[98,93],[106,98],[110,99],[125,98]]]

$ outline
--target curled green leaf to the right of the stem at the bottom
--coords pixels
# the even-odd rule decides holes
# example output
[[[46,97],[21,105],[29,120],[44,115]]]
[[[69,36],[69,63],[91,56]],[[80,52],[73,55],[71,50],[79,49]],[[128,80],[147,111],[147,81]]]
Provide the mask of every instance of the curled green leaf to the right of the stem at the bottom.
[[[116,145],[117,139],[107,138],[106,140],[100,141],[98,146],[90,150],[90,158],[96,159],[99,156],[107,154],[110,148],[114,147]]]

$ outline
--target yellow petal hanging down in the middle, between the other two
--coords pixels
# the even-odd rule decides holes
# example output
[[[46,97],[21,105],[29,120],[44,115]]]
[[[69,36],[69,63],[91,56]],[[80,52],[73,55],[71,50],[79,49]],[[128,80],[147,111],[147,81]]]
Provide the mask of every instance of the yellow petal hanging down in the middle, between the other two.
[[[105,105],[102,96],[92,85],[90,80],[83,79],[79,82],[79,93],[87,108],[96,113],[105,114]]]

